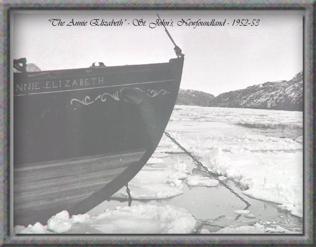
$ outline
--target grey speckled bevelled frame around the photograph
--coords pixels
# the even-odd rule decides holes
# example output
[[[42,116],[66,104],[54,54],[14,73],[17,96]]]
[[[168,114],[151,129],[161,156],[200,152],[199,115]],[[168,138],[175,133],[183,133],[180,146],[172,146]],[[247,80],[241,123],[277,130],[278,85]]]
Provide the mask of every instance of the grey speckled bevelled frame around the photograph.
[[[303,235],[32,235],[16,237],[10,235],[10,11],[12,10],[304,10],[304,176],[305,212]],[[55,1],[8,0],[0,3],[0,244],[3,246],[44,245],[305,245],[315,246],[315,83],[316,83],[316,2],[302,0],[284,2],[275,0],[242,2],[216,1],[108,1],[107,3],[87,0],[56,3]],[[3,165],[2,165],[3,164]]]

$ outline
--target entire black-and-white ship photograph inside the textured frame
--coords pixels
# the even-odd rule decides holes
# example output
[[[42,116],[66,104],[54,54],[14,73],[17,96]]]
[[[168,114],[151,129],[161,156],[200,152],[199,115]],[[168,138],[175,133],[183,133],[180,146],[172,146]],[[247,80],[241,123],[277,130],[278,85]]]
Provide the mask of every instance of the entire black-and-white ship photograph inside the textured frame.
[[[303,17],[12,11],[13,234],[303,234]]]

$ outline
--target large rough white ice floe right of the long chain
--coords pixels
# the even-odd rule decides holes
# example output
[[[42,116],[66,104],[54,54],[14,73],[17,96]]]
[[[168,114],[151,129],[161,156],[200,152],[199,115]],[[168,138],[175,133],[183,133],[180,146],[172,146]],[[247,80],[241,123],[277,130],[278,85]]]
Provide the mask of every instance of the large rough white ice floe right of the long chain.
[[[293,214],[302,215],[302,152],[232,154],[215,147],[195,154],[212,172],[238,182],[246,189],[243,194],[277,204],[291,204],[296,208]]]

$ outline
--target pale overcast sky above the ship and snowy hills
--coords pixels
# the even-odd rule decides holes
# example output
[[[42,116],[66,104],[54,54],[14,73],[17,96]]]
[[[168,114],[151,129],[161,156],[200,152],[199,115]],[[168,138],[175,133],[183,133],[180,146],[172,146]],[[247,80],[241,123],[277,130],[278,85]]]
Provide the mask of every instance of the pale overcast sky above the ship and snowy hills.
[[[217,96],[267,81],[290,80],[303,69],[303,14],[298,11],[16,12],[11,19],[11,57],[26,57],[41,70],[89,67],[100,61],[107,66],[167,62],[175,57],[173,45],[163,27],[149,26],[156,22],[156,13],[173,21],[167,28],[185,53],[181,88]],[[64,26],[48,21],[58,18]],[[146,26],[134,26],[133,20],[141,18]],[[66,26],[72,19],[87,25]],[[99,23],[122,19],[123,25],[91,26],[93,19]],[[178,26],[181,19],[226,19],[226,25]],[[258,26],[232,26],[234,19],[260,21]]]

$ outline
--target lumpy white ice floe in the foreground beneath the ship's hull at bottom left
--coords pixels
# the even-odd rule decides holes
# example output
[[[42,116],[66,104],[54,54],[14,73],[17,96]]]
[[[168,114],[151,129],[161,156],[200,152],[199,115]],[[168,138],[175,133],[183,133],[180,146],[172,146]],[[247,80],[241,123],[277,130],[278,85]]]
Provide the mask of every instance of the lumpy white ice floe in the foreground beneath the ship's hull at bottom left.
[[[170,205],[117,207],[95,216],[83,214],[71,218],[68,212],[63,211],[52,216],[48,222],[48,226],[40,223],[28,227],[16,226],[14,233],[190,234],[194,233],[196,226],[195,218],[187,210]]]

